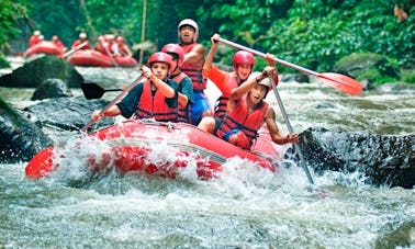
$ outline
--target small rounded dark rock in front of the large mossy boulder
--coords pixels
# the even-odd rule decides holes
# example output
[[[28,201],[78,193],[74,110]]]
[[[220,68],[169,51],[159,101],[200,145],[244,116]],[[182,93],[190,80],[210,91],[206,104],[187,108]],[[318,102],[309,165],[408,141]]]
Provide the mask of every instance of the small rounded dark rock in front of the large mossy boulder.
[[[68,86],[60,79],[47,79],[36,89],[31,100],[61,97],[72,97]]]

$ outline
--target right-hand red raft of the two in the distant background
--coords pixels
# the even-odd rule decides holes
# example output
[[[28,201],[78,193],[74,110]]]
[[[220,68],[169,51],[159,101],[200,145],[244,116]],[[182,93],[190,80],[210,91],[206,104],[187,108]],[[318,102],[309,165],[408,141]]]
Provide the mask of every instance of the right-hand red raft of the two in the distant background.
[[[75,52],[67,58],[72,66],[83,67],[136,67],[137,61],[132,57],[111,58],[93,49],[81,49]]]

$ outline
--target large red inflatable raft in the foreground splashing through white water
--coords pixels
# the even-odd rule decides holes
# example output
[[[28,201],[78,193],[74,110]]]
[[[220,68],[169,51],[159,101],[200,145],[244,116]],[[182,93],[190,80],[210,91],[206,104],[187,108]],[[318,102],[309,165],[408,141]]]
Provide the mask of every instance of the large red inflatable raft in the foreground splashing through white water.
[[[277,147],[270,140],[269,134],[260,134],[262,135],[258,137],[251,151],[248,151],[190,124],[126,121],[88,135],[89,138],[104,142],[110,146],[110,150],[103,152],[99,159],[97,155],[91,154],[86,165],[92,171],[108,170],[111,163],[121,174],[138,171],[175,178],[190,162],[193,167],[195,162],[199,178],[211,179],[222,171],[228,159],[239,157],[260,168],[274,171]],[[155,148],[162,146],[173,148],[176,157],[164,160],[155,155]],[[65,157],[58,151],[58,148],[48,147],[38,152],[27,163],[26,176],[38,179],[55,171],[59,167],[58,159]],[[167,152],[161,149],[162,154]]]

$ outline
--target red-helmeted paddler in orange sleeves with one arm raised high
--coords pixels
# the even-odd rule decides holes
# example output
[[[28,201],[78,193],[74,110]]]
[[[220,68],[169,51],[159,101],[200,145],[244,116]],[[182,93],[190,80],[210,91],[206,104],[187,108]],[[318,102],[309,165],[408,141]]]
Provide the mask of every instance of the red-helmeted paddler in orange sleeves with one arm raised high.
[[[234,71],[227,72],[220,70],[217,67],[213,66],[213,57],[216,53],[220,38],[221,36],[218,34],[214,34],[211,37],[212,45],[203,65],[203,77],[212,80],[222,92],[222,95],[216,100],[214,107],[214,117],[222,120],[225,116],[226,104],[232,89],[240,86],[246,79],[248,79],[254,69],[255,58],[250,52],[238,50],[233,57],[232,66]],[[265,59],[268,61],[269,66],[276,66],[273,55],[267,54]],[[274,81],[278,83],[278,77],[276,77]]]

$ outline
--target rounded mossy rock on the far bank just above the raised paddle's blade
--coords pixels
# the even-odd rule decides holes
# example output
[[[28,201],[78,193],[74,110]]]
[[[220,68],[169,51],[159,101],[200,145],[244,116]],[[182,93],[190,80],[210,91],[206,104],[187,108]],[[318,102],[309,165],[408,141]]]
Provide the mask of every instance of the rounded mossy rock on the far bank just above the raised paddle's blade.
[[[400,79],[400,69],[386,57],[371,53],[356,53],[341,58],[334,70],[370,84],[394,82]]]

